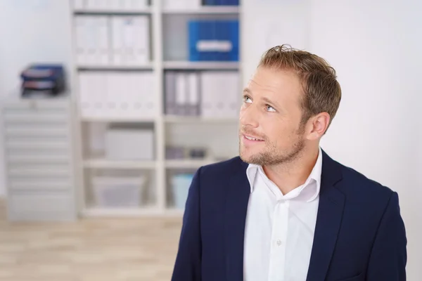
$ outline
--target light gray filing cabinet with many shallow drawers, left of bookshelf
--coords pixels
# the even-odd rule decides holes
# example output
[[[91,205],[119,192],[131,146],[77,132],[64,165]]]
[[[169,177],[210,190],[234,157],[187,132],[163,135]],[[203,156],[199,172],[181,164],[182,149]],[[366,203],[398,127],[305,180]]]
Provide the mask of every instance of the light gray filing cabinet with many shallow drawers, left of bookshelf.
[[[1,102],[10,221],[77,218],[70,98]]]

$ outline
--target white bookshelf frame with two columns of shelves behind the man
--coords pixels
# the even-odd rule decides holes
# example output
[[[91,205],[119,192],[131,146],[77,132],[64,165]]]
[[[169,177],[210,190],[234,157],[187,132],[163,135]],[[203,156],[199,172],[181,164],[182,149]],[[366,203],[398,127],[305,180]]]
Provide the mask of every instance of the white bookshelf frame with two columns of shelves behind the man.
[[[71,7],[73,1],[69,0]],[[241,8],[234,6],[216,6],[216,7],[200,7],[200,8],[180,8],[170,9],[162,7],[162,0],[152,0],[149,7],[128,10],[126,8],[72,8],[73,22],[73,48],[77,48],[77,36],[75,27],[75,18],[77,16],[89,17],[113,17],[113,16],[130,16],[130,15],[146,15],[150,20],[150,39],[151,39],[151,61],[146,63],[138,63],[131,65],[122,65],[115,63],[78,63],[77,55],[74,55],[75,77],[80,72],[151,72],[153,73],[153,93],[154,102],[158,105],[155,117],[118,117],[118,116],[84,116],[81,110],[81,95],[79,91],[75,91],[75,104],[77,109],[75,112],[77,119],[77,148],[79,160],[77,161],[77,180],[79,183],[78,199],[79,214],[82,216],[105,216],[105,217],[122,217],[122,216],[181,216],[182,209],[177,209],[170,204],[170,187],[168,176],[175,170],[195,171],[200,166],[217,162],[217,159],[224,159],[235,156],[238,141],[237,126],[238,117],[189,117],[189,116],[166,116],[164,110],[165,96],[165,72],[166,71],[237,71],[241,73],[240,62],[229,61],[210,61],[210,62],[191,62],[186,59],[186,43],[177,46],[177,53],[170,53],[169,48],[174,48],[174,44],[178,41],[186,41],[186,31],[181,34],[180,39],[167,40],[169,28],[177,28],[185,25],[188,19],[192,18],[238,18],[241,20]],[[175,25],[172,26],[172,22]],[[183,33],[183,32],[182,32]],[[184,45],[185,44],[185,45]],[[181,50],[181,51],[180,51]],[[184,53],[185,52],[185,53]],[[75,89],[79,89],[79,79],[75,79]],[[239,98],[241,93],[239,93]],[[87,128],[98,124],[152,124],[155,136],[154,156],[155,159],[148,161],[138,160],[113,160],[107,159],[104,155],[90,155],[86,152],[87,145]],[[196,136],[191,136],[195,132]],[[218,136],[221,133],[222,136]],[[226,136],[230,135],[227,141]],[[186,136],[188,136],[186,138]],[[171,140],[171,141],[169,141]],[[229,145],[227,143],[229,142]],[[166,159],[167,145],[186,145],[200,146],[213,145],[215,150],[221,153],[211,153],[205,159]],[[217,151],[219,152],[219,151]],[[151,202],[142,204],[139,207],[131,208],[104,208],[92,204],[89,198],[89,178],[96,173],[101,172],[119,172],[127,173],[148,173],[152,176],[152,183],[148,185],[148,196],[152,198]],[[92,192],[92,191],[91,191]]]

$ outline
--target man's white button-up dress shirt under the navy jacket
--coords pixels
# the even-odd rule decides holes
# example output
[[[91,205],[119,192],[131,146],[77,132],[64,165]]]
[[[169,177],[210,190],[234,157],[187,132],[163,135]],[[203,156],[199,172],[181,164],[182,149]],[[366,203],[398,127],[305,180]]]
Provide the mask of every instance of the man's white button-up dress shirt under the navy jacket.
[[[305,281],[319,204],[322,152],[305,184],[283,195],[262,166],[249,164],[245,281]]]

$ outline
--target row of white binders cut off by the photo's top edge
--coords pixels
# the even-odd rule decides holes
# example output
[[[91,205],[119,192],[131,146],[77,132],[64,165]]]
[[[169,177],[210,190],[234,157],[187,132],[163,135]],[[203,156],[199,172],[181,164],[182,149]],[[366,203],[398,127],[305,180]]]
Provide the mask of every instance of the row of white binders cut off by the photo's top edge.
[[[148,0],[73,0],[75,10],[136,11],[147,8]]]

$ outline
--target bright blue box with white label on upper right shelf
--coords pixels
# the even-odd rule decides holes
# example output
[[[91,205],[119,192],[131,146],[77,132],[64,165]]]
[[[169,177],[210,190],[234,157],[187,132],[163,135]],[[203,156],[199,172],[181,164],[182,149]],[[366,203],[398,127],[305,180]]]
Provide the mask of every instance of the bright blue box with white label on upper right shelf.
[[[191,20],[188,40],[191,61],[238,61],[238,20]]]

